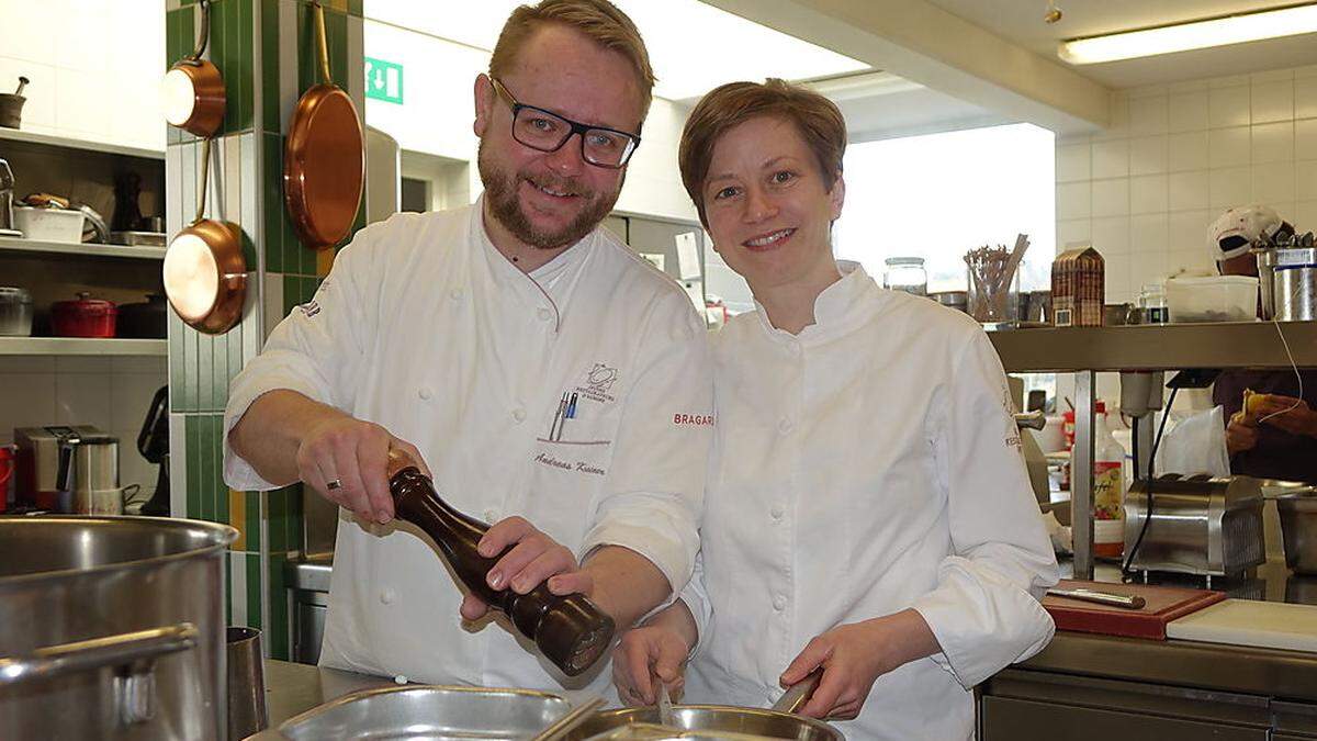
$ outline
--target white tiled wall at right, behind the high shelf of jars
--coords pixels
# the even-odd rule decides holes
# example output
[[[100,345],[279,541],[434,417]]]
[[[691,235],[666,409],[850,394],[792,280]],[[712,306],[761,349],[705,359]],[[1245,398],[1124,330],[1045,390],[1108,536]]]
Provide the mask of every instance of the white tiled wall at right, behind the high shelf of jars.
[[[1213,273],[1208,225],[1266,203],[1317,229],[1317,66],[1118,91],[1105,131],[1056,141],[1056,244],[1092,240],[1109,302]]]

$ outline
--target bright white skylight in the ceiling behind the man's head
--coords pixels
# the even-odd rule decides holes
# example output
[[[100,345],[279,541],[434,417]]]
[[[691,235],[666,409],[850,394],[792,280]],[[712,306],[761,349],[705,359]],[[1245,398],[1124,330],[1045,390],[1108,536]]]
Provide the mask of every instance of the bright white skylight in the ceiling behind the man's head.
[[[366,0],[366,18],[481,50],[493,50],[514,8],[528,0]],[[802,80],[855,73],[869,65],[748,21],[699,0],[615,0],[636,22],[658,83],[655,95],[698,98],[749,79]]]

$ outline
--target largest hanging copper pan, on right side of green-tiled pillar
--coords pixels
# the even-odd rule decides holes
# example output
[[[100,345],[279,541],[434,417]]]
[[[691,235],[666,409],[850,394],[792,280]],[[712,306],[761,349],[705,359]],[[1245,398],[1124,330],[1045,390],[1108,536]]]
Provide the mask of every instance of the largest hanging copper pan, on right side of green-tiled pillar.
[[[298,239],[312,249],[342,241],[365,183],[365,136],[357,108],[329,76],[324,8],[313,3],[320,84],[298,100],[283,157],[283,198]]]

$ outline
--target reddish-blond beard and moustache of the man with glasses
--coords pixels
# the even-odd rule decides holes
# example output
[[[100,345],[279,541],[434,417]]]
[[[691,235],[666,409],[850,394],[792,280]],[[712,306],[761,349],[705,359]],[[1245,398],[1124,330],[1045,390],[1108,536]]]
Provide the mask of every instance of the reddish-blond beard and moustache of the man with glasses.
[[[485,198],[489,200],[490,212],[507,231],[512,232],[512,236],[540,249],[557,249],[579,241],[612,211],[612,206],[622,193],[620,181],[618,190],[610,196],[599,195],[576,178],[508,174],[495,165],[491,157],[486,156],[485,140],[481,140],[477,165],[481,171],[481,182],[485,185]],[[586,166],[593,167],[594,165]],[[529,182],[531,187],[544,186],[558,193],[573,194],[576,198],[583,199],[585,208],[561,229],[553,232],[539,229],[525,218],[518,200],[516,191],[523,179]]]

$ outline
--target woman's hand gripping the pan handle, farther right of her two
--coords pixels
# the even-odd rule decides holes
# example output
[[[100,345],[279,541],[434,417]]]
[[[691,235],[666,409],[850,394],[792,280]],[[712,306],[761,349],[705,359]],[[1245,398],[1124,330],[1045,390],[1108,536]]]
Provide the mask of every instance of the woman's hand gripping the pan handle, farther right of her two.
[[[860,715],[878,676],[940,650],[923,617],[906,609],[822,633],[786,667],[781,684],[790,687],[822,666],[823,678],[801,715],[851,720]]]

